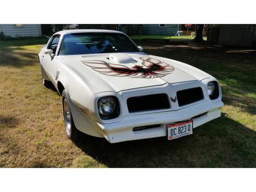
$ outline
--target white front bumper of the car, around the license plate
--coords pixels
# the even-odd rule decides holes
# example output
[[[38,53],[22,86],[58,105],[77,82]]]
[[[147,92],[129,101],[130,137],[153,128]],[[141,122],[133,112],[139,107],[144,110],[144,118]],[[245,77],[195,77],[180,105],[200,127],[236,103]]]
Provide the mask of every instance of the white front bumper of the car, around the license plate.
[[[166,124],[189,120],[192,117],[206,113],[206,115],[194,118],[193,126],[196,128],[212,119],[218,118],[221,116],[220,108],[222,106],[222,101],[205,101],[178,111],[125,116],[122,120],[110,124],[100,124],[93,120],[91,125],[110,143],[156,138],[166,136]],[[156,124],[160,124],[160,127],[141,131],[132,130],[134,127]]]

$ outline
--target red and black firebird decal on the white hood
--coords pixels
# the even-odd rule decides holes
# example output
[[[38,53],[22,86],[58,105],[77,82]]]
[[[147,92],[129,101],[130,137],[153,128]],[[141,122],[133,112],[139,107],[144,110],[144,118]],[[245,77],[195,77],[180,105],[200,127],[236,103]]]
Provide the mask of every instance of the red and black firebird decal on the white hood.
[[[120,64],[107,63],[101,60],[81,61],[103,75],[114,77],[130,78],[157,78],[164,77],[174,71],[174,67],[166,62],[150,57],[140,57],[141,65],[131,64],[125,66]]]

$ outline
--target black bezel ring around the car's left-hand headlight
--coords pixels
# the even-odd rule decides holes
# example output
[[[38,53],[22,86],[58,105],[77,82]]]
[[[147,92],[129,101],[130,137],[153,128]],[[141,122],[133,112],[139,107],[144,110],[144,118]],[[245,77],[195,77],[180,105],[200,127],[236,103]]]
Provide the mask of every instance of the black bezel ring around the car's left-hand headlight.
[[[111,98],[115,103],[115,106],[114,106],[114,109],[113,109],[112,113],[106,114],[106,115],[100,113],[100,111],[99,111],[99,103],[104,98]],[[99,98],[98,101],[97,101],[97,109],[98,109],[98,113],[99,113],[100,118],[103,119],[103,120],[114,119],[114,118],[117,118],[120,115],[119,101],[115,96],[112,96],[112,95]]]

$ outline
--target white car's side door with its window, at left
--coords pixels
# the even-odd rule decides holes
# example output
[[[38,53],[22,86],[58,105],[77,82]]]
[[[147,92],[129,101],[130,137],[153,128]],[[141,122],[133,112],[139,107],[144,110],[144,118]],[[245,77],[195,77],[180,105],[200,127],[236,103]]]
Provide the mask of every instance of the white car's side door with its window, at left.
[[[52,36],[49,44],[47,45],[47,49],[51,49],[53,51],[52,54],[43,53],[43,64],[46,68],[46,72],[50,76],[51,80],[55,80],[55,73],[58,66],[58,56],[56,55],[56,50],[58,44],[60,42],[60,35]]]

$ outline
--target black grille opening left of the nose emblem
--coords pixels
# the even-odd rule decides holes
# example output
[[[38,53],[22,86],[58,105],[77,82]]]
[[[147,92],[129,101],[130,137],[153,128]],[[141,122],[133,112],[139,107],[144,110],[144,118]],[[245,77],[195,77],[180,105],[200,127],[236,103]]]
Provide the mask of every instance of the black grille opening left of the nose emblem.
[[[128,98],[127,106],[128,111],[133,113],[170,108],[170,103],[168,95],[166,93],[160,93]]]

